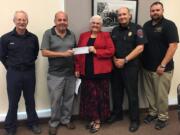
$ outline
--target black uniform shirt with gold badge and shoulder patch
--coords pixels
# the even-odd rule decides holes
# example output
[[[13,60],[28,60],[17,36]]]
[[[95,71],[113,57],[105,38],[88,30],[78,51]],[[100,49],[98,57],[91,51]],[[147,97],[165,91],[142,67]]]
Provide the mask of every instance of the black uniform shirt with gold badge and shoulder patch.
[[[125,58],[137,45],[142,45],[147,41],[141,26],[134,23],[129,23],[127,27],[116,26],[112,30],[112,39],[117,58]],[[127,63],[129,66],[137,66],[137,64],[137,58]]]

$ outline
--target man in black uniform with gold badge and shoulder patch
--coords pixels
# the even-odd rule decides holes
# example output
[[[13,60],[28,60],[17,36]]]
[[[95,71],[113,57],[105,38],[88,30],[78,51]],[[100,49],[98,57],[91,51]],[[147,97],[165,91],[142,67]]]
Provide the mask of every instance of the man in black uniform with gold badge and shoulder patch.
[[[112,39],[115,44],[114,71],[112,77],[113,113],[109,119],[112,123],[123,119],[124,89],[127,92],[130,113],[130,132],[139,127],[138,102],[138,55],[143,51],[143,30],[139,25],[130,22],[131,14],[127,7],[118,10],[119,26],[112,30]]]

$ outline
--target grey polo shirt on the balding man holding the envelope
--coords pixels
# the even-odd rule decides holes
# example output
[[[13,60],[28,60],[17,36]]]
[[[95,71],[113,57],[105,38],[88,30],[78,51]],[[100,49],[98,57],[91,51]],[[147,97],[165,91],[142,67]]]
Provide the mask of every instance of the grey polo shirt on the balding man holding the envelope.
[[[41,44],[41,50],[66,51],[76,46],[75,35],[67,29],[67,34],[61,38],[56,34],[55,27],[45,31]],[[74,74],[74,57],[48,58],[48,73],[56,76],[70,76]]]

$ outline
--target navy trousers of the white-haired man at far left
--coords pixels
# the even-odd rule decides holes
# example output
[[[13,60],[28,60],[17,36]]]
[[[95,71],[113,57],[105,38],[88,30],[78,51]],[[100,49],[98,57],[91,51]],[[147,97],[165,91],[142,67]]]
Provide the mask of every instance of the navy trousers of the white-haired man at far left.
[[[23,91],[26,104],[28,126],[37,124],[38,116],[35,111],[35,69],[18,71],[8,68],[7,70],[7,94],[9,101],[8,113],[5,120],[5,129],[7,131],[16,131],[18,102]]]

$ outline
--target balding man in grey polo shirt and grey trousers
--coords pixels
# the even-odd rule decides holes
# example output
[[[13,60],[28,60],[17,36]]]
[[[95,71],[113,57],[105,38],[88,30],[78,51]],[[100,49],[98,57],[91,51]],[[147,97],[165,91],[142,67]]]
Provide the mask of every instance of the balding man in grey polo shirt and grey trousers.
[[[48,29],[42,40],[42,55],[48,57],[47,84],[51,100],[49,135],[56,135],[59,124],[68,129],[75,126],[70,122],[75,91],[74,57],[75,35],[68,27],[68,16],[59,11],[55,14],[55,26]]]

